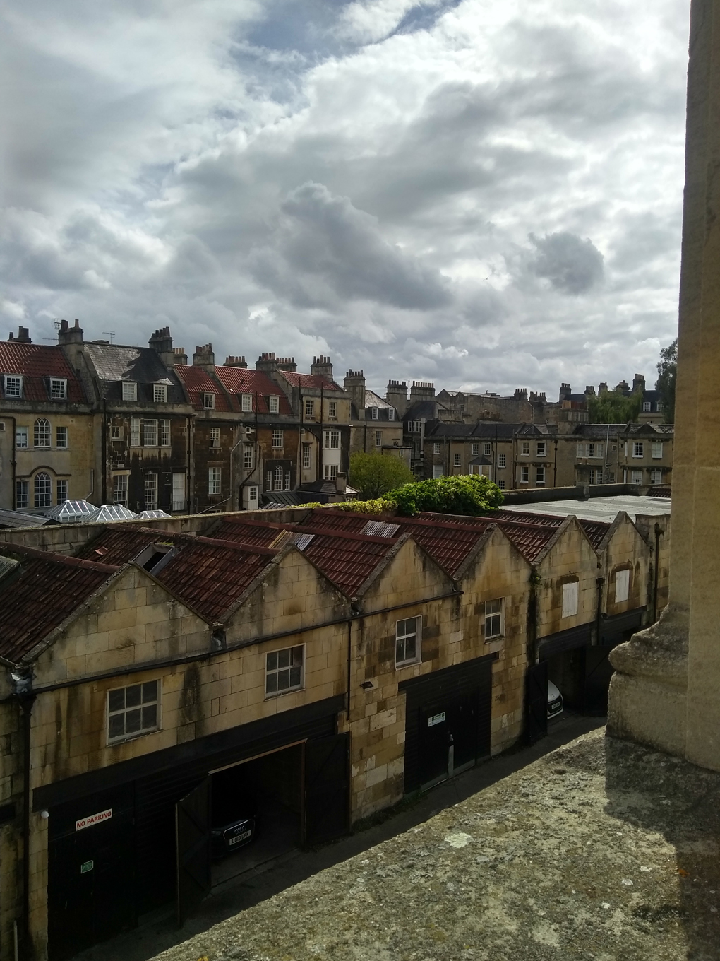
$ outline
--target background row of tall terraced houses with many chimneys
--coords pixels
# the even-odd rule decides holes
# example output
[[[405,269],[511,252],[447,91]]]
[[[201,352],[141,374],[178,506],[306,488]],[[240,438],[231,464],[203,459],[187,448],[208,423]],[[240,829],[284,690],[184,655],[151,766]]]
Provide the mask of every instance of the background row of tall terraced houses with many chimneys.
[[[604,385],[603,385],[604,386]],[[627,386],[627,384],[626,384]],[[57,346],[25,328],[0,341],[0,509],[70,500],[166,513],[344,500],[349,456],[401,457],[419,478],[484,474],[502,489],[668,484],[673,430],[655,392],[639,423],[588,423],[588,395],[557,403],[390,381],[385,396],[328,357],[188,363],[169,329],[146,348],[85,340],[62,321]],[[636,375],[634,389],[644,390]]]

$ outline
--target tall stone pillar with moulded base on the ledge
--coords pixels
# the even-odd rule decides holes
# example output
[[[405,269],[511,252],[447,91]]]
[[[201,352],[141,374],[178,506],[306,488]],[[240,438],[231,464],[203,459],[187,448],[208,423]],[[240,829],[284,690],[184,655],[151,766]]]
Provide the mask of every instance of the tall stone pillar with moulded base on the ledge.
[[[608,732],[720,771],[720,0],[692,0],[669,603],[611,654]]]

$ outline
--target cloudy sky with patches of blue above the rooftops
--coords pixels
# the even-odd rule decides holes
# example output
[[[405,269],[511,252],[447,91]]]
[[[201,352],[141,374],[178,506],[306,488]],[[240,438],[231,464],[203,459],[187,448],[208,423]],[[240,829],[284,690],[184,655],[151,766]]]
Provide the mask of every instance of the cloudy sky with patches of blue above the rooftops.
[[[5,0],[0,335],[169,325],[375,387],[654,379],[688,7]]]

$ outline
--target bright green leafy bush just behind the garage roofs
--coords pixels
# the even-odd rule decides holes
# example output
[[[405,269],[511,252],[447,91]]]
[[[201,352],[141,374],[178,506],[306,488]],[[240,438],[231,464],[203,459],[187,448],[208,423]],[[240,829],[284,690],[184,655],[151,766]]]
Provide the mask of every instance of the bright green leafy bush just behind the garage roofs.
[[[435,480],[417,480],[386,494],[385,500],[406,517],[420,510],[440,514],[482,514],[502,504],[503,495],[482,474],[464,474]]]

